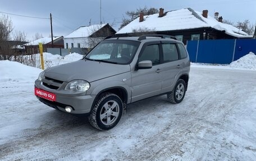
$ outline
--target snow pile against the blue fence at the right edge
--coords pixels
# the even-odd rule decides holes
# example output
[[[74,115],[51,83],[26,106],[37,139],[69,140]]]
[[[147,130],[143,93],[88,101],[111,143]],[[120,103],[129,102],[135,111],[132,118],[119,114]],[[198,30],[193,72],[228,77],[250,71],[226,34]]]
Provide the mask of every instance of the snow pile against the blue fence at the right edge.
[[[230,67],[256,70],[256,55],[253,52],[250,52],[237,61],[230,63]]]

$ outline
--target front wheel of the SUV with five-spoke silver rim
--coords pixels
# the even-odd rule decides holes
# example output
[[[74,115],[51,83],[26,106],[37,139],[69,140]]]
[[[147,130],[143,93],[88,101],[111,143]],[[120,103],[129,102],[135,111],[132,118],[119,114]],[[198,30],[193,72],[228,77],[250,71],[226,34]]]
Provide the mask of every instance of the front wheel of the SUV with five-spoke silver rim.
[[[122,111],[122,100],[116,94],[103,93],[94,103],[89,122],[99,130],[109,130],[120,121]]]

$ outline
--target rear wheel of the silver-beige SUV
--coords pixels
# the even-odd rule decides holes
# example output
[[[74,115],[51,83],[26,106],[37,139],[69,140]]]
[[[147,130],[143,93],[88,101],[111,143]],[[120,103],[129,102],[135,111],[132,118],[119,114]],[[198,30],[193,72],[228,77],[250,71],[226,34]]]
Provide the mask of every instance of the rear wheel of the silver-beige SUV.
[[[186,83],[184,80],[179,79],[176,82],[171,94],[167,94],[167,99],[174,104],[182,102],[186,94]]]

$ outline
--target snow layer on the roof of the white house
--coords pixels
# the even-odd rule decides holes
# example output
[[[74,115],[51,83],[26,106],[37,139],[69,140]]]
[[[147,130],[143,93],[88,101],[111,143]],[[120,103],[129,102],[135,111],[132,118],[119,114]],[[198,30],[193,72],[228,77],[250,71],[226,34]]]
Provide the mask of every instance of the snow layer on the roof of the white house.
[[[81,26],[64,38],[87,38],[107,24]]]

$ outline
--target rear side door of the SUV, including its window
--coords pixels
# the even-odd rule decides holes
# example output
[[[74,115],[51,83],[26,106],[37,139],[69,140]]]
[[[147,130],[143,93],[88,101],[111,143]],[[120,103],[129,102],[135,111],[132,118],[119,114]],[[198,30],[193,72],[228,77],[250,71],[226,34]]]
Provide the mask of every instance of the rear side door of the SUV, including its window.
[[[175,43],[164,42],[161,44],[163,53],[162,65],[162,93],[172,91],[177,77],[182,75],[182,61]]]

